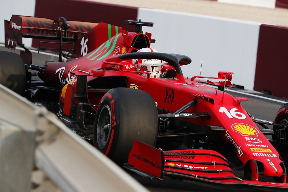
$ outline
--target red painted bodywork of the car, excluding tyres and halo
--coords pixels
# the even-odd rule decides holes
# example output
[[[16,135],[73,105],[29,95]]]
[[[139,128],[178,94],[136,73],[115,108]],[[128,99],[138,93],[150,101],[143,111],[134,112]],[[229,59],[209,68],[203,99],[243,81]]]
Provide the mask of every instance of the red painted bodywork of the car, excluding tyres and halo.
[[[20,18],[22,19],[22,34],[28,33],[29,29],[24,28],[24,26],[27,26],[27,19],[31,19],[23,16],[18,17],[17,19],[19,19],[19,21],[15,20],[17,25],[21,25],[21,23],[19,23]],[[46,26],[43,26],[43,28],[46,28],[45,31],[51,31],[58,26],[58,22],[52,25],[51,23],[55,22],[52,20],[36,19],[38,21],[43,20],[43,23],[46,23]],[[49,25],[47,23],[49,23]],[[119,55],[136,52],[141,48],[135,45],[135,43],[137,43],[135,39],[137,39],[138,36],[139,38],[142,38],[142,40],[146,40],[146,47],[150,47],[150,33],[128,32],[122,30],[120,27],[106,23],[96,25],[77,22],[77,24],[78,26],[80,26],[80,24],[86,24],[86,26],[90,25],[91,28],[92,26],[95,27],[88,33],[81,33],[79,30],[75,30],[76,33],[79,33],[79,39],[75,42],[75,51],[73,52],[72,57],[67,62],[47,63],[44,72],[47,81],[64,87],[60,94],[60,103],[64,106],[64,109],[61,110],[63,110],[64,115],[69,116],[69,110],[72,106],[71,99],[78,101],[77,97],[67,97],[71,94],[72,90],[74,90],[74,94],[77,94],[76,85],[78,75],[87,76],[87,86],[99,77],[127,77],[125,87],[136,88],[150,93],[156,102],[157,108],[163,113],[164,109],[165,111],[171,111],[173,113],[188,102],[196,99],[197,104],[185,110],[185,113],[205,112],[211,114],[211,118],[199,117],[195,119],[185,119],[185,121],[189,121],[190,123],[199,126],[212,125],[223,127],[224,131],[219,132],[219,135],[226,140],[226,146],[234,147],[237,157],[244,165],[247,165],[252,172],[251,181],[242,181],[236,178],[235,174],[230,171],[221,172],[221,170],[231,170],[228,167],[228,161],[221,154],[211,150],[191,149],[190,151],[193,151],[193,153],[205,153],[206,155],[193,155],[195,158],[188,158],[185,163],[179,163],[167,156],[167,154],[171,154],[173,151],[165,151],[166,162],[164,175],[174,172],[176,176],[183,176],[184,174],[187,177],[197,178],[197,175],[201,175],[206,176],[207,178],[198,177],[200,180],[217,180],[217,182],[223,183],[246,183],[273,187],[288,186],[285,184],[286,170],[281,166],[283,161],[279,158],[278,152],[240,105],[240,101],[247,100],[247,98],[234,98],[228,93],[199,83],[195,80],[196,77],[190,79],[183,77],[183,75],[179,73],[177,73],[177,76],[174,79],[149,78],[149,75],[147,77],[147,75],[143,75],[135,70],[132,60],[122,60],[119,58]],[[69,31],[69,33],[74,32]],[[49,35],[50,32],[47,32],[47,34]],[[53,34],[51,34],[51,36],[52,35]],[[173,69],[173,66],[169,65],[169,63],[165,63],[162,71],[165,72],[168,69]],[[207,82],[222,87],[229,86],[231,85],[232,72],[219,72],[218,77],[215,77],[214,79],[222,79],[222,81],[216,83],[213,83],[212,81]],[[68,83],[69,87],[67,87]],[[115,83],[117,82],[110,82],[111,88],[113,88],[113,84]],[[67,92],[70,94],[66,94]],[[87,94],[89,102],[91,104],[98,104],[106,92],[107,91],[105,90],[90,91],[88,89]],[[69,100],[67,103],[65,103],[66,98]],[[96,110],[97,107],[94,106],[94,109]],[[223,148],[226,146],[223,146]],[[181,151],[178,152],[181,153]],[[215,158],[211,159],[208,158],[207,154],[214,154],[217,155],[217,157],[213,156]],[[173,157],[176,157],[177,159],[176,155]],[[191,157],[191,155],[189,157]],[[214,167],[211,165],[206,166],[201,163],[195,164],[189,162],[189,160],[199,162],[210,162],[210,160],[212,160],[221,164]],[[263,173],[258,172],[257,162],[263,165]],[[185,166],[179,166],[180,164]],[[187,170],[175,169],[179,167],[187,168]],[[189,169],[190,167],[192,167],[192,169]],[[203,170],[202,167],[207,170],[216,170],[217,173],[198,172],[197,169]],[[147,170],[143,171],[147,172]],[[157,175],[159,174],[161,173],[157,173]],[[229,177],[229,179],[219,180],[219,174],[221,174],[221,177]],[[279,183],[259,182],[259,174],[266,177],[278,177]],[[158,177],[160,178],[161,176]]]

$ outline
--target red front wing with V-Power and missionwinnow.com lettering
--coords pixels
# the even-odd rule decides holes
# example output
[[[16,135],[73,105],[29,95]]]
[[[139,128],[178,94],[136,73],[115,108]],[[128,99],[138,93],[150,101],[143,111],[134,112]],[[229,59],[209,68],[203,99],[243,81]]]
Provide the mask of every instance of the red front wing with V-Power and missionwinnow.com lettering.
[[[169,176],[215,184],[288,188],[287,183],[243,180],[225,157],[212,150],[162,151],[137,140],[124,167],[149,179],[163,180],[163,176]]]

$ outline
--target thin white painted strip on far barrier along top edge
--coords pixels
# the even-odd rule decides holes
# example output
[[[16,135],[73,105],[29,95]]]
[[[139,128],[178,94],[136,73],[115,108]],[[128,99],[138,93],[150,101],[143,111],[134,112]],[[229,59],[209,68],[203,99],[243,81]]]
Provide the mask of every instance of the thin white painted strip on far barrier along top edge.
[[[275,8],[276,4],[276,0],[218,0],[218,2],[266,8]]]

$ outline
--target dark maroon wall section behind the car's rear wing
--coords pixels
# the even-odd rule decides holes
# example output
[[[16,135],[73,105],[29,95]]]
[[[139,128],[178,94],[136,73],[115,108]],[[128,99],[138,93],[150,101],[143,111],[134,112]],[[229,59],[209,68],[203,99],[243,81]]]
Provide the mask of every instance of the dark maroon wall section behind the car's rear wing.
[[[44,17],[58,20],[65,17],[67,20],[85,21],[108,24],[122,27],[126,31],[134,31],[134,26],[125,25],[124,20],[135,20],[138,7],[100,3],[94,1],[73,0],[36,0],[35,17]],[[39,40],[33,39],[32,47],[38,47]]]

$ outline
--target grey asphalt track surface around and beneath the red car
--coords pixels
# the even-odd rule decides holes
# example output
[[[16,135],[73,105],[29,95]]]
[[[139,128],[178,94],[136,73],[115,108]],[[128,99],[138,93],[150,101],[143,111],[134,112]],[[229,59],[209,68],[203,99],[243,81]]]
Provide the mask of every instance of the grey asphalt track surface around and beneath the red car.
[[[5,49],[3,45],[0,45],[0,51],[9,51]],[[16,50],[15,53],[20,53],[20,50]],[[43,53],[43,54],[33,54],[33,64],[38,64],[43,66],[45,64],[45,60],[49,61],[57,61],[58,58],[55,57],[55,54]],[[236,71],[234,71],[237,73]],[[235,90],[235,89],[231,89]],[[249,101],[241,102],[242,107],[251,113],[254,117],[259,119],[265,119],[269,121],[274,121],[275,115],[278,112],[279,108],[284,104],[284,102],[288,102],[287,99],[277,98],[274,96],[268,96],[261,94],[259,92],[247,91],[247,90],[239,90],[236,89],[237,93],[230,92],[227,90],[229,94],[236,97],[247,97]],[[240,93],[239,93],[240,92]],[[248,95],[247,95],[248,93]],[[258,96],[264,98],[258,98]],[[268,100],[265,98],[272,98],[275,100]],[[279,101],[276,101],[279,100]],[[271,128],[271,127],[270,127]],[[268,136],[269,138],[269,136]],[[129,172],[130,173],[130,172]],[[139,181],[142,185],[144,185],[149,191],[287,191],[284,189],[270,189],[270,188],[262,188],[262,187],[247,187],[244,185],[217,185],[217,184],[209,184],[209,183],[200,183],[196,181],[179,181],[173,180],[168,177],[164,177],[162,181],[152,179],[148,180],[140,175],[130,173],[136,180]],[[237,174],[237,173],[236,173]],[[241,174],[241,172],[239,172]]]

